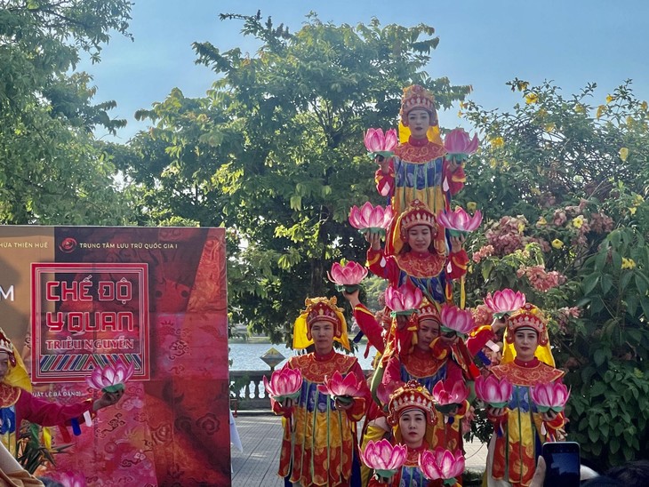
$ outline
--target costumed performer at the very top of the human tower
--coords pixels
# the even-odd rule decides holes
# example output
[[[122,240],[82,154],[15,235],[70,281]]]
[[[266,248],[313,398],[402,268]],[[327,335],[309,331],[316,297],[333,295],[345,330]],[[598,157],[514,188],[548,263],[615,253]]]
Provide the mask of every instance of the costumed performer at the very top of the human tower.
[[[400,117],[404,143],[397,146],[394,156],[378,157],[381,168],[376,172],[376,188],[382,196],[391,197],[396,215],[415,199],[437,215],[448,209],[450,197],[464,186],[464,170],[461,164],[445,159],[431,92],[418,84],[405,88]]]

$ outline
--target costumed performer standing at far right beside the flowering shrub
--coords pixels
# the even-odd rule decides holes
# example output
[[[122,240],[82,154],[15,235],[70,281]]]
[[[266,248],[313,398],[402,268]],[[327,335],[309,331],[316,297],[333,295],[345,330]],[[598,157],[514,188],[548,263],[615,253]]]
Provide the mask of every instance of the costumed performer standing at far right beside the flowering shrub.
[[[495,430],[485,474],[490,487],[530,485],[541,444],[561,437],[565,424],[563,412],[539,412],[530,395],[530,387],[559,381],[564,375],[552,366],[554,361],[547,353],[548,329],[541,309],[527,303],[509,316],[505,339],[513,343],[516,356],[509,361],[503,358],[491,373],[497,379],[508,379],[514,392],[504,408],[487,407]],[[546,351],[551,365],[534,356],[538,349]]]

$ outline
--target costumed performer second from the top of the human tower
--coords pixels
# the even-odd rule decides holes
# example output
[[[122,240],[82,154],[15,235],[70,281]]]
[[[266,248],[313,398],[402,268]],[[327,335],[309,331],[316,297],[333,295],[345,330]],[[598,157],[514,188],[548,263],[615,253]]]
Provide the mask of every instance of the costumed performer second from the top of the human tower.
[[[394,253],[381,249],[379,234],[365,234],[370,243],[367,250],[370,270],[388,279],[395,288],[413,285],[421,289],[430,301],[450,301],[449,280],[466,274],[469,263],[461,238],[451,238],[452,249],[447,256],[444,231],[440,231],[435,215],[419,200],[408,205],[407,210],[397,217],[393,228],[386,247],[394,249]],[[440,235],[441,241],[437,238]]]

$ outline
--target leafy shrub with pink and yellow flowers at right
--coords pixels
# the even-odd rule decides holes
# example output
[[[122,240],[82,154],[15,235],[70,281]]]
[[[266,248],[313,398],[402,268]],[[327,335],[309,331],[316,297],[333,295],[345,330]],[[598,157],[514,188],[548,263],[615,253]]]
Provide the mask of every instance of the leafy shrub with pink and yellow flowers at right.
[[[469,300],[525,291],[546,310],[572,387],[567,430],[598,465],[646,458],[649,411],[649,124],[630,82],[593,105],[514,80],[513,113],[466,106],[485,134],[461,197],[479,202]]]

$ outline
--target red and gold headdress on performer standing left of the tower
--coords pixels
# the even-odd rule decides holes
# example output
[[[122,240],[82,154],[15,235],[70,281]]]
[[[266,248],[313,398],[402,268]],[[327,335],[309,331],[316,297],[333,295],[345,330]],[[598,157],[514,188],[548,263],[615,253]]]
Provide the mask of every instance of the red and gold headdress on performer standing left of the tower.
[[[347,321],[342,314],[342,308],[337,307],[338,300],[334,296],[327,298],[307,298],[304,300],[306,309],[295,320],[293,325],[293,348],[306,348],[313,343],[311,324],[324,321],[333,324],[333,339],[349,350],[347,337]]]

